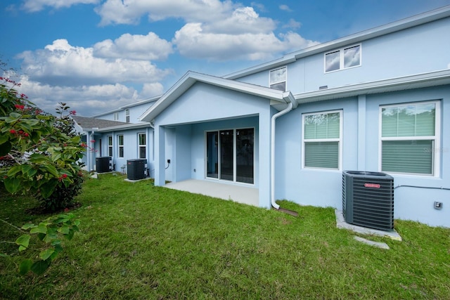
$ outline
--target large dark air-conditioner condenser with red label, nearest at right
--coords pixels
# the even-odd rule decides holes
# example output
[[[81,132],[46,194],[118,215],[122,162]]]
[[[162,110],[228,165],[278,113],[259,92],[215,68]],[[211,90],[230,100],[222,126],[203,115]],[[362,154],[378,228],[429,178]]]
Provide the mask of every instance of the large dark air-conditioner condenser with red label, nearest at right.
[[[394,229],[394,178],[381,172],[342,172],[342,212],[347,223]]]

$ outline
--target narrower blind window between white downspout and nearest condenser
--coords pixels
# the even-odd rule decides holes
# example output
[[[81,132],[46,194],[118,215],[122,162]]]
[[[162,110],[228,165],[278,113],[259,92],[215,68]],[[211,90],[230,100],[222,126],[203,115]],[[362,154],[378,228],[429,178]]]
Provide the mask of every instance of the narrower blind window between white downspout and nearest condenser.
[[[340,169],[342,112],[303,115],[303,167]]]

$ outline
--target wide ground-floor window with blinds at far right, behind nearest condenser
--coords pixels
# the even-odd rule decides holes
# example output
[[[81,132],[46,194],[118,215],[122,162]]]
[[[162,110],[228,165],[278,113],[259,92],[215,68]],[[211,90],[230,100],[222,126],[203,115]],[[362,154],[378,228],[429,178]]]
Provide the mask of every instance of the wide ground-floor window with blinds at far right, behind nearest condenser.
[[[439,101],[380,107],[381,171],[435,175]]]

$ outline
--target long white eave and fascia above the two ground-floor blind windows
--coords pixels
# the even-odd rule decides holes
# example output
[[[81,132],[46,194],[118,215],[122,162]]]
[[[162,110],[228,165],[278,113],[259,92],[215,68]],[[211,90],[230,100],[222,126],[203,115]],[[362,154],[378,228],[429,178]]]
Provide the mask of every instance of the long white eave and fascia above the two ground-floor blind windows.
[[[335,98],[352,97],[364,94],[385,93],[390,91],[402,91],[407,89],[418,89],[428,86],[440,86],[450,84],[450,70],[440,70],[423,74],[415,74],[406,77],[396,77],[371,81],[363,84],[352,84],[337,88],[323,89],[306,93],[295,94],[299,104],[310,103]]]

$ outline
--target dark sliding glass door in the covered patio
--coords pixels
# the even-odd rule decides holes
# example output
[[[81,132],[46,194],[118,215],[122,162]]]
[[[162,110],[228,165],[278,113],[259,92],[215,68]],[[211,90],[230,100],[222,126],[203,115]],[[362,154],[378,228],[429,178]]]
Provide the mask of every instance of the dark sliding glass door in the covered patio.
[[[252,128],[207,132],[206,176],[254,183],[254,141]]]

